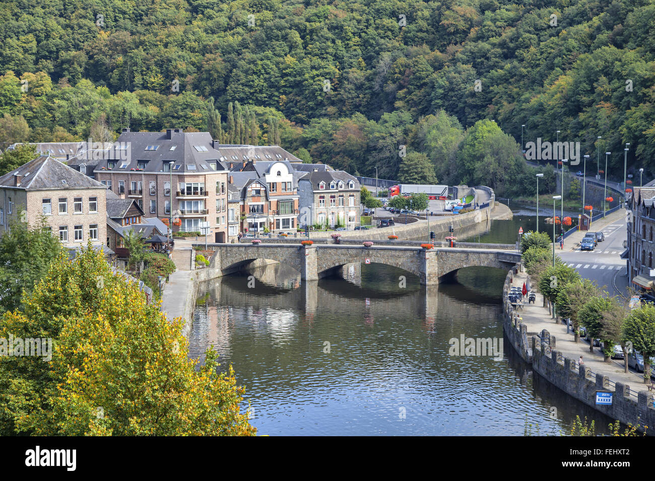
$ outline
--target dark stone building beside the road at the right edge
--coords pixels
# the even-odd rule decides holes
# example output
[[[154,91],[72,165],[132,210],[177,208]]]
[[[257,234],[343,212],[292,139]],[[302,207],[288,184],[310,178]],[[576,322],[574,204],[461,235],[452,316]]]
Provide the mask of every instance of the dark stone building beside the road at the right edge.
[[[633,287],[653,295],[655,287],[655,187],[635,187],[629,200],[627,274]]]

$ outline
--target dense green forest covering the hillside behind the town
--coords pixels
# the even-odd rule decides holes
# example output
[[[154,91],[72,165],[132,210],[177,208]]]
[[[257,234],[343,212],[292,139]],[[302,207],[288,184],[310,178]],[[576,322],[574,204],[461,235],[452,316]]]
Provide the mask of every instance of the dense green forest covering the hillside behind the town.
[[[655,172],[652,1],[8,0],[0,37],[0,148],[183,127],[514,194],[525,124]]]

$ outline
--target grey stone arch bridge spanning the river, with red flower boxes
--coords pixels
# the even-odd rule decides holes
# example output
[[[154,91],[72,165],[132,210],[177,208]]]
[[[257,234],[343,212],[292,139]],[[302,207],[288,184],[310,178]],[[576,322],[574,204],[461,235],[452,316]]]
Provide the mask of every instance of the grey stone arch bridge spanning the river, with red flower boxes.
[[[217,244],[210,267],[221,274],[247,268],[257,259],[282,262],[301,274],[303,281],[313,281],[335,274],[353,262],[387,264],[411,272],[425,285],[437,285],[439,279],[458,269],[488,266],[508,270],[521,260],[521,254],[498,245],[479,244],[479,248],[373,245],[298,245],[282,243]],[[495,248],[494,248],[495,247]]]

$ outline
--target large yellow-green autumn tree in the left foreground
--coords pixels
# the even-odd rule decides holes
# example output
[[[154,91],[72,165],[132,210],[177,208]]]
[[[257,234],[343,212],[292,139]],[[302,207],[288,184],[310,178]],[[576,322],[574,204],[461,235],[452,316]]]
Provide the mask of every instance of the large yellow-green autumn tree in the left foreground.
[[[28,435],[254,435],[234,372],[187,357],[181,319],[169,323],[138,285],[87,247],[62,256],[7,313],[0,336],[51,337],[52,361],[0,361],[0,432]]]

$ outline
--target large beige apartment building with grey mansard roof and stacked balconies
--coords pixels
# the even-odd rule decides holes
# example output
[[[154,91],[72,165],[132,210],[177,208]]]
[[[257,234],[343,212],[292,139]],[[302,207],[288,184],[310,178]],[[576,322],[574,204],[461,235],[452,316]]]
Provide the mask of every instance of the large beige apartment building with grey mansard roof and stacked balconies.
[[[208,132],[130,132],[123,129],[96,179],[145,215],[167,220],[174,232],[197,232],[207,222],[216,242],[227,241],[227,175],[223,154]]]

